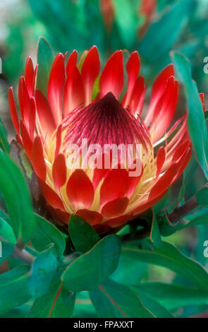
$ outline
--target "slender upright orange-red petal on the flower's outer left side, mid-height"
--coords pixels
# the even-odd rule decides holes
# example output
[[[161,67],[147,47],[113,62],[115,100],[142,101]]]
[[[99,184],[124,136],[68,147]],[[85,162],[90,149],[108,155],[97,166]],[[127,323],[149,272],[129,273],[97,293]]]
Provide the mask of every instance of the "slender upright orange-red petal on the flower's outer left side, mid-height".
[[[35,137],[32,148],[32,166],[37,174],[37,177],[42,179],[42,181],[46,181],[47,167],[44,161],[44,153],[40,136]]]

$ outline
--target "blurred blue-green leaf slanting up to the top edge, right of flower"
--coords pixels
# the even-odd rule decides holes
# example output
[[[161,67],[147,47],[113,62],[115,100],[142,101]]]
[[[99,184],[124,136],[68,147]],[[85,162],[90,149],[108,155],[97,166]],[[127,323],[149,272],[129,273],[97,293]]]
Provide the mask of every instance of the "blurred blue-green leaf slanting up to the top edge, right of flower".
[[[142,57],[150,63],[153,61],[157,63],[171,50],[181,35],[183,23],[190,13],[192,3],[192,0],[176,1],[176,4],[170,6],[169,11],[164,11],[161,18],[150,26],[140,42],[139,52]]]

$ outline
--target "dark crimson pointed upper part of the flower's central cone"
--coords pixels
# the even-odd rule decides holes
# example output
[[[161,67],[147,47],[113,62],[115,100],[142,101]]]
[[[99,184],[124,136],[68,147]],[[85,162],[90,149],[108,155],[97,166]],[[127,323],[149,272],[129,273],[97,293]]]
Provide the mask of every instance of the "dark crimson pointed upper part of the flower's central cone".
[[[64,121],[66,129],[63,144],[137,144],[146,147],[149,137],[142,120],[138,121],[124,109],[113,93],[107,93],[99,102],[75,110]]]

